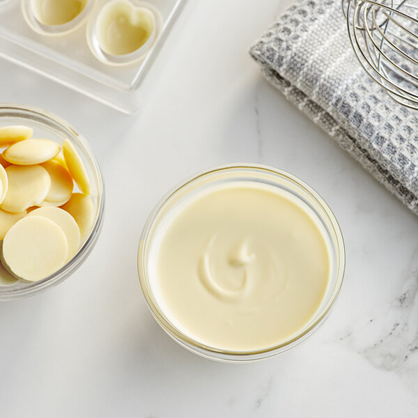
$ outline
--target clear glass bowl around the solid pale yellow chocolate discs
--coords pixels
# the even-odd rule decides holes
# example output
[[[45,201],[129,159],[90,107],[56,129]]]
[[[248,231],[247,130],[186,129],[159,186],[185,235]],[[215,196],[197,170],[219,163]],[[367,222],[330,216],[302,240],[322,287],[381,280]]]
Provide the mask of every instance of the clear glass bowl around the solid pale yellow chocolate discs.
[[[95,219],[93,226],[82,244],[68,263],[63,265],[54,274],[45,279],[26,282],[18,281],[9,286],[0,286],[0,300],[13,300],[20,297],[35,295],[47,288],[67,279],[70,274],[83,263],[90,251],[93,249],[103,220],[104,211],[104,181],[99,164],[93,155],[91,147],[82,134],[79,134],[74,127],[63,119],[59,118],[49,111],[38,109],[36,107],[24,106],[21,104],[0,104],[0,126],[6,125],[26,125],[33,128],[34,137],[46,137],[62,144],[67,138],[75,147],[84,163],[88,178],[91,183],[91,196],[95,208]],[[77,190],[76,190],[77,191]]]

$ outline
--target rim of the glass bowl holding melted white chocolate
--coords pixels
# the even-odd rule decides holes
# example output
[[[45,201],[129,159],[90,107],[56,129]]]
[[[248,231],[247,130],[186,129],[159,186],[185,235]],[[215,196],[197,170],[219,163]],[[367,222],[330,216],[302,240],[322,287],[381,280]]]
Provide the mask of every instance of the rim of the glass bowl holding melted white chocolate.
[[[206,176],[210,176],[215,173],[222,173],[226,171],[234,171],[234,170],[249,170],[249,171],[259,171],[267,174],[272,174],[274,176],[279,176],[284,178],[285,180],[290,181],[294,185],[301,187],[304,189],[304,192],[307,192],[311,198],[319,204],[320,208],[322,208],[329,221],[332,225],[333,232],[336,235],[336,242],[332,241],[332,247],[336,253],[337,265],[336,265],[336,276],[335,276],[335,284],[332,288],[332,293],[330,295],[330,299],[325,304],[325,307],[320,310],[318,313],[316,320],[314,320],[309,327],[303,329],[302,332],[298,332],[293,336],[291,339],[288,339],[282,343],[279,343],[275,346],[270,346],[268,348],[263,348],[260,350],[251,350],[251,351],[235,351],[235,350],[224,350],[219,348],[214,348],[211,346],[207,346],[204,343],[196,341],[195,339],[187,336],[185,333],[178,330],[178,328],[173,325],[166,316],[162,313],[162,309],[160,306],[155,302],[153,302],[153,292],[150,290],[149,280],[148,280],[148,272],[147,268],[145,267],[146,257],[144,257],[144,251],[146,249],[146,245],[148,243],[148,237],[150,229],[152,229],[154,223],[157,221],[157,215],[160,213],[160,210],[164,207],[164,204],[171,199],[172,196],[175,196],[178,192],[181,192],[187,185],[195,183]],[[233,175],[231,176],[233,179]],[[197,186],[199,187],[199,186]],[[281,187],[281,186],[279,186]],[[298,196],[298,194],[296,194]],[[300,196],[298,196],[300,197]],[[323,222],[323,217],[320,217],[321,222]],[[237,163],[237,164],[224,164],[217,167],[212,167],[210,169],[206,169],[203,171],[199,171],[199,173],[194,174],[193,176],[189,176],[182,182],[178,183],[176,186],[171,188],[169,192],[164,194],[162,199],[157,202],[153,210],[148,215],[148,219],[144,224],[144,229],[141,233],[141,238],[139,240],[139,248],[138,248],[138,274],[139,274],[139,283],[141,285],[142,293],[144,294],[146,303],[148,305],[148,309],[150,309],[151,314],[153,314],[157,323],[162,327],[162,329],[171,336],[174,341],[187,348],[188,350],[201,355],[203,357],[207,357],[209,359],[215,359],[220,361],[245,361],[245,360],[256,360],[256,359],[263,359],[267,357],[271,357],[272,355],[277,355],[279,353],[283,353],[293,346],[301,343],[306,339],[308,336],[313,334],[320,325],[324,322],[327,316],[330,314],[332,307],[336,302],[336,299],[339,296],[341,286],[343,284],[343,277],[345,272],[345,265],[346,265],[346,252],[345,246],[343,241],[343,235],[341,233],[341,229],[339,227],[338,222],[336,221],[336,217],[330,207],[327,205],[325,200],[313,189],[311,186],[304,183],[304,181],[300,180],[293,174],[288,173],[287,171],[277,169],[275,167],[270,167],[265,164],[251,164],[251,163]]]

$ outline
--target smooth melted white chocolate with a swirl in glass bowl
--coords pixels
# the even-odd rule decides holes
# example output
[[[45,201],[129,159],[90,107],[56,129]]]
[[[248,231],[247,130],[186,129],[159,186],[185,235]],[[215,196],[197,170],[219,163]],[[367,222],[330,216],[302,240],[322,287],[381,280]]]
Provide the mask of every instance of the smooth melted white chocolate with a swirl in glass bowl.
[[[261,350],[291,339],[327,291],[323,226],[299,199],[256,183],[212,187],[160,224],[151,286],[164,314],[207,346]]]

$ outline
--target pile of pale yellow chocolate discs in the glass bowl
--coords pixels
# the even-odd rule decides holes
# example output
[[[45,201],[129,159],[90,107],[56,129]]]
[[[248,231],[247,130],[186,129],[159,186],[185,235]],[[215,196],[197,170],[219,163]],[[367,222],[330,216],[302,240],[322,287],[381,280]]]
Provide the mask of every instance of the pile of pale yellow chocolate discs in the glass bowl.
[[[24,126],[0,128],[0,146],[8,146],[0,154],[0,286],[59,270],[77,254],[95,218],[91,197],[72,193],[75,182],[91,193],[75,147],[65,139],[61,152],[56,141],[31,139],[32,133]]]

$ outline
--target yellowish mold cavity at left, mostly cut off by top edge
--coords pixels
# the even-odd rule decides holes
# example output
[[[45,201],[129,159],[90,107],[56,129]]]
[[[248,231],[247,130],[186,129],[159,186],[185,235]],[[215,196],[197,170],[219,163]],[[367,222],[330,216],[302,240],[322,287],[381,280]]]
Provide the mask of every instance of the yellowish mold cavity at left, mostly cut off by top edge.
[[[88,0],[31,0],[36,20],[47,26],[71,22],[86,7]]]

